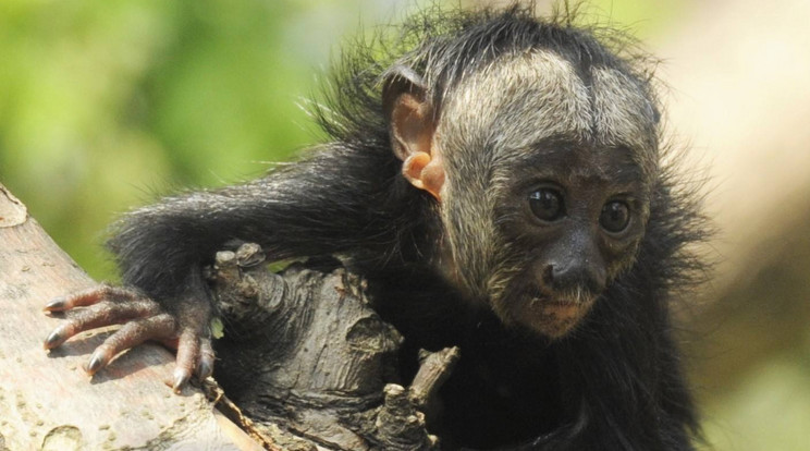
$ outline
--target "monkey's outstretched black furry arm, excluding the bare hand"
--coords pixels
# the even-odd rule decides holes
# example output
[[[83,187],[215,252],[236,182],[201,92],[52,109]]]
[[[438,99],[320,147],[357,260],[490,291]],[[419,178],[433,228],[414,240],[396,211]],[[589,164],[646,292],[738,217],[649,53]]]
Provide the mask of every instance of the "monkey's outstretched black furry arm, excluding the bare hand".
[[[212,261],[234,240],[261,245],[272,259],[373,243],[389,229],[381,205],[398,168],[389,154],[358,154],[330,148],[247,184],[135,210],[109,242],[124,282],[154,296],[176,294],[182,268]]]

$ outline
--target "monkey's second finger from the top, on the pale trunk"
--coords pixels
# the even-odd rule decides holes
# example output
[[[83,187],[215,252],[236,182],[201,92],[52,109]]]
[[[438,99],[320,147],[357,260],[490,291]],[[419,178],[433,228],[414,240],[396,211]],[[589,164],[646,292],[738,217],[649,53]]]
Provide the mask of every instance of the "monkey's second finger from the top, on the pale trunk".
[[[148,318],[160,312],[160,305],[149,298],[122,304],[110,302],[94,304],[86,309],[74,312],[65,322],[53,329],[45,339],[44,346],[50,350],[85,330],[118,325],[134,318]]]

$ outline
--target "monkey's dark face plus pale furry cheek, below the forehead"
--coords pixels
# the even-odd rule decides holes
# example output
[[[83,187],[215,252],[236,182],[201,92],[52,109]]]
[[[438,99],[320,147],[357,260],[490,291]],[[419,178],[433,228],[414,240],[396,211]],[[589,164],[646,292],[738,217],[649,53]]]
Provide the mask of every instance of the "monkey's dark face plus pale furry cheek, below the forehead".
[[[444,271],[505,324],[555,339],[635,263],[650,183],[627,147],[551,139],[518,154],[489,191],[446,192]]]

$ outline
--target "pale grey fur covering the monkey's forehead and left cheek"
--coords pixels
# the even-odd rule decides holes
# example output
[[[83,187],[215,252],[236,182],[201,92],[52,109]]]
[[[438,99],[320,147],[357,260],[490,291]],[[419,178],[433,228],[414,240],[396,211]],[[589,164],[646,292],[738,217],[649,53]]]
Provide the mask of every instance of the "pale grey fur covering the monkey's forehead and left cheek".
[[[475,293],[492,296],[512,277],[494,211],[515,175],[507,168],[542,151],[538,143],[563,139],[586,154],[627,148],[642,173],[652,168],[655,126],[641,86],[612,69],[592,68],[585,78],[556,53],[531,50],[498,59],[446,94],[433,138],[446,172],[443,255],[464,263],[453,279]]]

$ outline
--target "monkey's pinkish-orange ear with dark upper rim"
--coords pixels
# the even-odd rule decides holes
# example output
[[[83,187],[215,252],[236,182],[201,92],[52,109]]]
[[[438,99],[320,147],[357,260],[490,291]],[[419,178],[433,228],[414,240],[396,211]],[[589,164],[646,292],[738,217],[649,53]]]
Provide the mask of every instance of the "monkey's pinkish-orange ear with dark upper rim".
[[[394,66],[383,85],[382,105],[389,123],[391,146],[402,160],[402,174],[412,185],[441,200],[444,164],[433,145],[433,107],[419,75]]]

